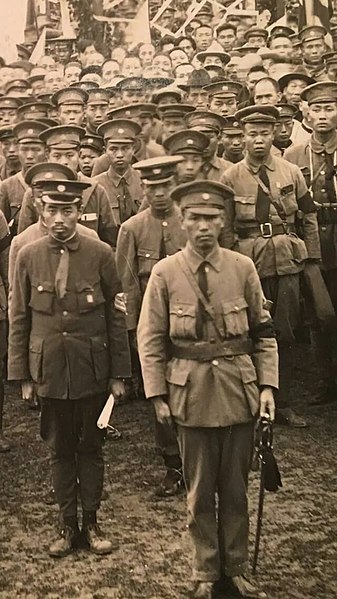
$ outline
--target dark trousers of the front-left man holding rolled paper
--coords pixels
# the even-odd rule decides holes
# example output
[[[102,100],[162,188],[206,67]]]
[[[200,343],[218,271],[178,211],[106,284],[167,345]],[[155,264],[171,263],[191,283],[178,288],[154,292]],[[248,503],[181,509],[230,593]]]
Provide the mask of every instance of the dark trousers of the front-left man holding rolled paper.
[[[106,394],[76,400],[40,398],[40,433],[51,450],[53,486],[63,521],[77,516],[77,481],[83,511],[99,509],[105,430],[97,427],[97,420],[106,400]]]

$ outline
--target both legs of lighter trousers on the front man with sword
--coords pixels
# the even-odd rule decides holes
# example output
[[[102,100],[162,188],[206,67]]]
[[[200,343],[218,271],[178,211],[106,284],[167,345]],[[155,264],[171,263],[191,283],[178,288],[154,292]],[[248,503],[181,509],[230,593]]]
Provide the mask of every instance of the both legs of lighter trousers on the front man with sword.
[[[177,427],[193,544],[193,578],[215,582],[248,568],[248,473],[254,423]],[[216,498],[218,497],[218,500]]]

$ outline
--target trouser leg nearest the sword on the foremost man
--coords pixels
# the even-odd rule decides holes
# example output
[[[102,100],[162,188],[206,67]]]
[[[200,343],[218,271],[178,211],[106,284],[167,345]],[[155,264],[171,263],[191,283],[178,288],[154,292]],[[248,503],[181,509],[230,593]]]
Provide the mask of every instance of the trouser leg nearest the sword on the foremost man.
[[[222,429],[218,474],[218,538],[221,573],[238,576],[248,569],[249,517],[247,486],[254,424]]]

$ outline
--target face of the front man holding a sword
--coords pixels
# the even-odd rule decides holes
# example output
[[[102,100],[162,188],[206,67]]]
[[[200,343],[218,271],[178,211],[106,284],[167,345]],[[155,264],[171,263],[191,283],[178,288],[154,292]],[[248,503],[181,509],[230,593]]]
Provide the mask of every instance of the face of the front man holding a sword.
[[[216,246],[221,229],[224,226],[224,215],[209,216],[196,214],[191,208],[186,208],[181,217],[181,228],[186,231],[188,241],[192,247],[203,256]]]

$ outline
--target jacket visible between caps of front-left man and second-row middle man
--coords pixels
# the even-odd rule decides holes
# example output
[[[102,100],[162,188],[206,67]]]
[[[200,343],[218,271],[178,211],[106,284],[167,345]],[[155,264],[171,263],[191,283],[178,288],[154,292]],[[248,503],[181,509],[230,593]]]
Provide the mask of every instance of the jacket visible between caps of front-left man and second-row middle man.
[[[137,214],[144,191],[140,174],[135,169],[129,166],[121,176],[110,167],[106,173],[94,177],[94,181],[104,187],[117,225]]]

